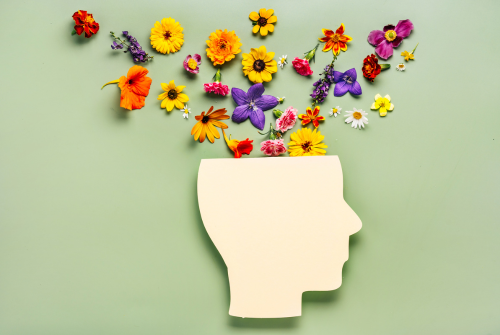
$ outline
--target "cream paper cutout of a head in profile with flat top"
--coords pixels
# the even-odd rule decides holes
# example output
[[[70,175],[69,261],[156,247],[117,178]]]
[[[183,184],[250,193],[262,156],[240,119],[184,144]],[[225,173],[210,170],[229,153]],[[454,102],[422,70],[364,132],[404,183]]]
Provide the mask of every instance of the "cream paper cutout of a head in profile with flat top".
[[[337,156],[201,161],[198,202],[228,269],[230,315],[299,316],[303,292],[341,285],[361,229],[342,185]]]

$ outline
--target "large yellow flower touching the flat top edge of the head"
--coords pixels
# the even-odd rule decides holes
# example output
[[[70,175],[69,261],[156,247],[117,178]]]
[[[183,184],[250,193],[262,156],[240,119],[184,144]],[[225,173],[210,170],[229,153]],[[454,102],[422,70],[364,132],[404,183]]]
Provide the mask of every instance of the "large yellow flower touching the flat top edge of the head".
[[[311,131],[309,128],[302,128],[297,130],[296,133],[290,135],[292,140],[288,143],[288,151],[290,156],[324,156],[328,146],[321,143],[325,138],[321,132],[316,132],[317,129]]]

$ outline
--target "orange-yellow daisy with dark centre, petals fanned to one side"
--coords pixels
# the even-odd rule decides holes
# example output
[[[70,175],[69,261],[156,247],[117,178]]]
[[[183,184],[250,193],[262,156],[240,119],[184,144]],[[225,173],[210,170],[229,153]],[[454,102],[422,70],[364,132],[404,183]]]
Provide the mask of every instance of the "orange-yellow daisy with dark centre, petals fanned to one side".
[[[210,107],[206,115],[205,112],[202,112],[201,115],[194,117],[198,121],[191,129],[191,135],[194,135],[195,141],[199,138],[200,143],[202,143],[205,141],[206,136],[210,142],[214,143],[214,138],[220,138],[220,134],[215,127],[227,129],[227,124],[220,122],[220,120],[229,119],[229,115],[226,115],[227,110],[221,108],[213,111],[213,109],[214,106]]]

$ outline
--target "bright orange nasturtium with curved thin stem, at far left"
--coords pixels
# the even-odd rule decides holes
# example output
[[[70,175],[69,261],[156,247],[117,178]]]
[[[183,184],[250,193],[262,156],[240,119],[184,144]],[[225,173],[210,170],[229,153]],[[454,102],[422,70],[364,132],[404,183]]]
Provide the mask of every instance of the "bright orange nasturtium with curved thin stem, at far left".
[[[145,99],[149,94],[152,79],[147,77],[148,70],[139,65],[132,66],[127,76],[121,76],[120,79],[110,81],[108,84],[118,84],[121,90],[120,107],[128,110],[140,109],[144,107]]]

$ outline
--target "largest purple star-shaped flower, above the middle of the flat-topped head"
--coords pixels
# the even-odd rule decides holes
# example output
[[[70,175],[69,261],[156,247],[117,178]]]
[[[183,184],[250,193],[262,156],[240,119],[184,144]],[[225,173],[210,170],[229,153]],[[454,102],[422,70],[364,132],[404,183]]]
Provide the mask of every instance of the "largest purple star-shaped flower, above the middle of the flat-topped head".
[[[234,122],[241,123],[250,118],[250,122],[252,122],[256,128],[260,130],[264,129],[264,124],[266,123],[264,111],[278,105],[278,99],[276,97],[272,95],[262,95],[264,90],[264,85],[262,85],[262,83],[252,85],[252,87],[248,89],[248,93],[236,87],[231,89],[233,100],[238,104],[232,116]]]

